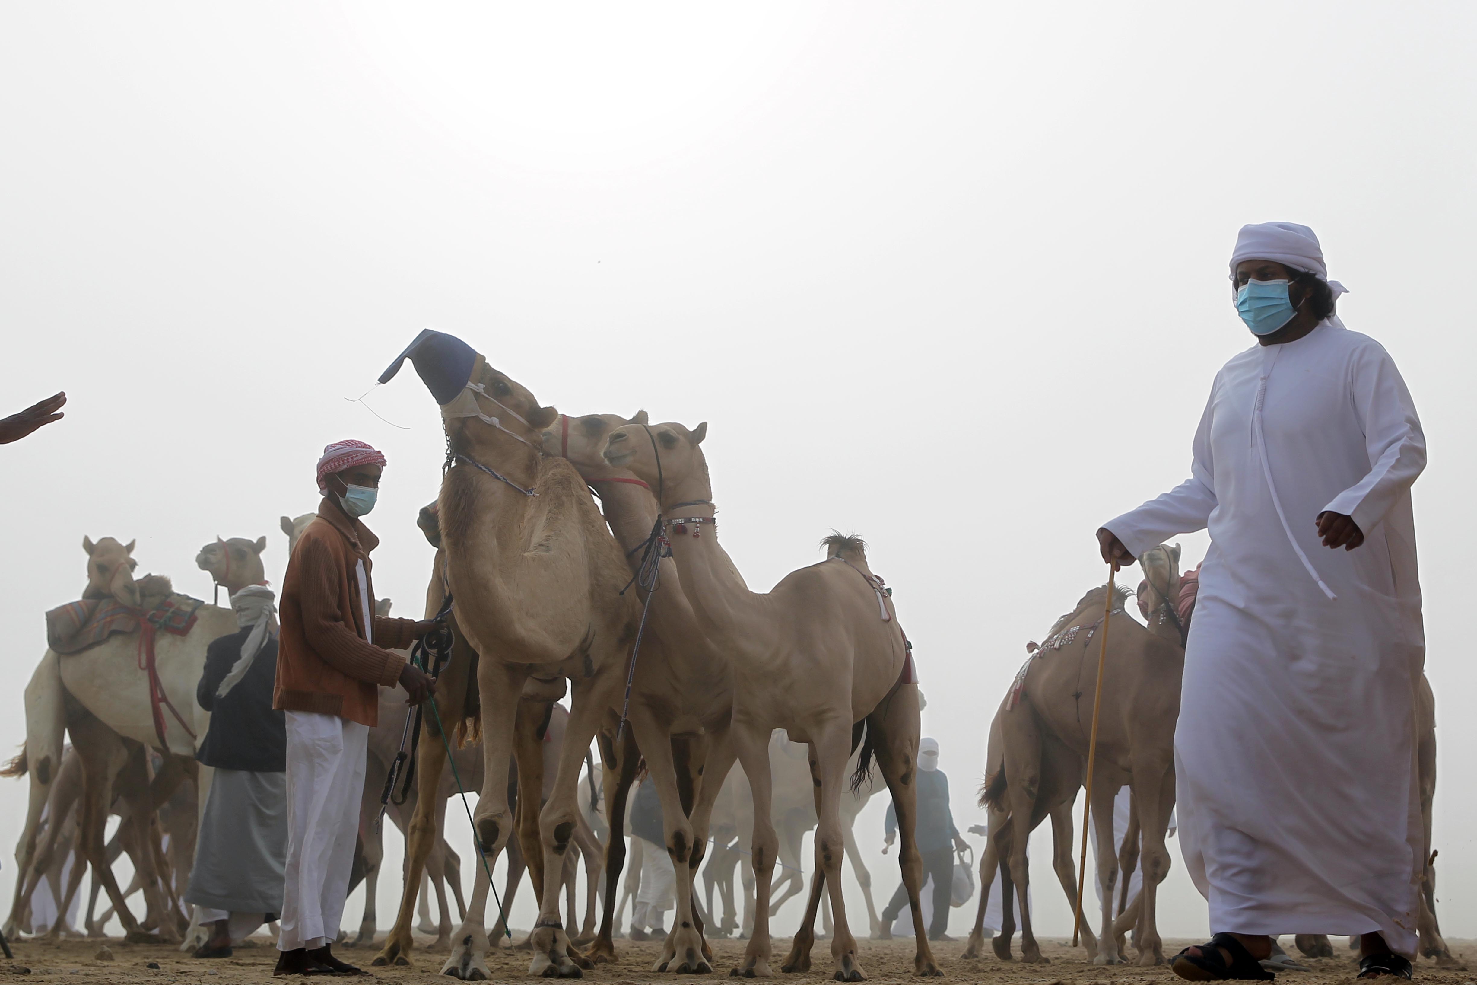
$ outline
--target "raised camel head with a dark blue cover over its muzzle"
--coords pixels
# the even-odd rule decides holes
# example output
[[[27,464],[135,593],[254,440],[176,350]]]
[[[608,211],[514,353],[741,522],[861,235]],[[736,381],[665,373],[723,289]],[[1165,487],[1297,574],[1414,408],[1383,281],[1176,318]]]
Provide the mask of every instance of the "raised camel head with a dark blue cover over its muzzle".
[[[453,452],[496,459],[496,450],[515,450],[513,442],[539,449],[541,433],[558,416],[542,406],[527,387],[493,369],[471,346],[425,329],[415,337],[390,368],[380,374],[388,382],[409,359],[421,382],[442,406],[442,422]]]

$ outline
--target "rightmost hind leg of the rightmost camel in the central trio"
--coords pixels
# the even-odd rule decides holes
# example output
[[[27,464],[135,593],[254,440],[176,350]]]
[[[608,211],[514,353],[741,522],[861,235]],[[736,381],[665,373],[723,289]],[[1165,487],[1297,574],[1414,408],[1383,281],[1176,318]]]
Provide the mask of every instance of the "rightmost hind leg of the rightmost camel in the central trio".
[[[913,973],[925,978],[939,976],[944,972],[933,960],[928,929],[923,926],[923,908],[919,905],[919,893],[923,890],[923,858],[919,855],[914,840],[919,812],[917,787],[913,784],[919,752],[917,684],[904,684],[891,699],[873,710],[867,716],[867,731],[877,756],[877,766],[892,793],[894,811],[898,815],[898,867],[902,870],[902,885],[908,892],[908,907],[913,910],[913,938],[917,942]],[[840,886],[837,885],[832,892],[832,905],[835,905]],[[840,914],[842,911],[837,908],[837,920],[840,920]],[[836,945],[832,944],[833,951],[835,948]]]

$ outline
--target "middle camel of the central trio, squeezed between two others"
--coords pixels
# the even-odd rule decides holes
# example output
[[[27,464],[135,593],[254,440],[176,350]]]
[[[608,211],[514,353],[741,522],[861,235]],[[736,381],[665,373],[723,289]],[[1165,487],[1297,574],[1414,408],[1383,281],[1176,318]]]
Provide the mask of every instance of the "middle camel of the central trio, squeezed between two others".
[[[579,418],[561,413],[544,431],[544,452],[573,462],[600,496],[606,521],[625,551],[629,576],[638,582],[632,591],[644,592],[644,564],[651,561],[660,566],[632,676],[629,710],[629,732],[662,799],[663,836],[676,879],[672,927],[651,970],[706,975],[712,970],[710,951],[702,935],[702,919],[693,907],[693,883],[706,855],[713,802],[733,766],[728,750],[733,716],[730,660],[727,651],[699,626],[693,605],[682,594],[676,566],[671,558],[660,558],[656,545],[650,543],[660,512],[659,489],[654,490],[629,470],[613,467],[601,455],[606,439],[626,424],[644,427],[645,412],[629,421],[616,413]],[[645,598],[644,594],[641,597]],[[606,774],[609,799],[616,805],[616,817],[623,817],[634,769],[622,768],[622,750],[616,749],[611,731],[609,724],[603,730],[601,759],[610,766]],[[625,861],[622,833],[617,826],[616,834],[607,840],[604,919],[589,953],[597,961],[616,957],[611,933],[614,888]]]

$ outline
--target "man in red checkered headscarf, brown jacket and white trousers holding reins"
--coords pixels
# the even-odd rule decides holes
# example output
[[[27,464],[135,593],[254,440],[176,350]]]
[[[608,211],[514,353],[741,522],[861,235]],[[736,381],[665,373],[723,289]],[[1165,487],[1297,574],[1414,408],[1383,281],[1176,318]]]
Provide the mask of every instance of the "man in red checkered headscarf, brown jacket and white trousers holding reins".
[[[287,725],[288,846],[278,975],[354,972],[329,945],[349,895],[365,750],[378,722],[380,687],[411,704],[434,682],[396,650],[431,620],[374,614],[369,552],[380,539],[360,517],[374,509],[385,459],[365,442],[334,442],[318,459],[323,501],[288,560],[273,707]]]

